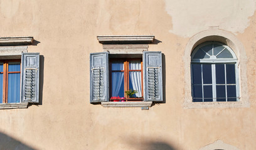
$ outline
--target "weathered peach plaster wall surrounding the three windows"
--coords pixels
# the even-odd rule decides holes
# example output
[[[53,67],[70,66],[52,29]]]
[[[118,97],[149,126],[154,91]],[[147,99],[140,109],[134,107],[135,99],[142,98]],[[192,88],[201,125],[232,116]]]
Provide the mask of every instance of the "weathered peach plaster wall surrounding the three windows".
[[[33,36],[43,62],[41,105],[0,110],[0,132],[33,149],[200,149],[220,139],[256,149],[256,14],[253,0],[0,1],[0,36]],[[250,108],[184,109],[184,49],[218,26],[245,47]],[[89,103],[96,36],[154,34],[164,54],[164,97],[148,111]],[[10,139],[9,141],[14,141]],[[13,145],[15,142],[2,142]]]

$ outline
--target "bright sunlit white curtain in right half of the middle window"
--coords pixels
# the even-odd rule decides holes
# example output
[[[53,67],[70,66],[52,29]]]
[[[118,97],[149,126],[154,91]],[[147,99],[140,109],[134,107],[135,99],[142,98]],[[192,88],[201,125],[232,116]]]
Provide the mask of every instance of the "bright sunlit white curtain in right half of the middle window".
[[[130,61],[129,70],[141,70],[141,61]],[[141,71],[129,71],[129,78],[133,89],[138,91],[136,97],[141,98]]]

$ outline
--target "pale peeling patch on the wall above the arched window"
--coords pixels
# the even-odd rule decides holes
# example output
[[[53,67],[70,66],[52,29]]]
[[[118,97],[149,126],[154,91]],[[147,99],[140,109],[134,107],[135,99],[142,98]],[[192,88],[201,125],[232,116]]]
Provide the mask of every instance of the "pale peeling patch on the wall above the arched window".
[[[169,32],[183,37],[218,26],[220,29],[242,33],[249,25],[255,11],[255,0],[165,0],[166,11],[173,18]]]

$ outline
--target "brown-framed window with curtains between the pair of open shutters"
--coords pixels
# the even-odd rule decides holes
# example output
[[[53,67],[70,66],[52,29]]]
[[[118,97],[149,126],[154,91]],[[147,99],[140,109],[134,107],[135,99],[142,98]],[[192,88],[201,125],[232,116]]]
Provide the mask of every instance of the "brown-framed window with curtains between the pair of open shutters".
[[[110,101],[121,98],[122,101],[143,100],[142,59],[112,59],[110,61]],[[130,98],[125,91],[137,91]]]

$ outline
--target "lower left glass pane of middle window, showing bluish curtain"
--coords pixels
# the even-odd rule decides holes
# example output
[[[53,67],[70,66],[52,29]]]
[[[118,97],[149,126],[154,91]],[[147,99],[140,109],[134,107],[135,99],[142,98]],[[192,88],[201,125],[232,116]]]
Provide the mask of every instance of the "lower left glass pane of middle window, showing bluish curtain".
[[[112,96],[124,97],[124,72],[112,73]]]

